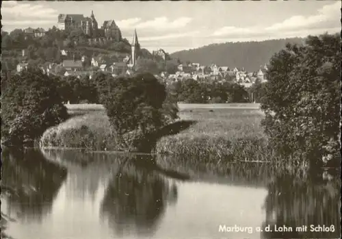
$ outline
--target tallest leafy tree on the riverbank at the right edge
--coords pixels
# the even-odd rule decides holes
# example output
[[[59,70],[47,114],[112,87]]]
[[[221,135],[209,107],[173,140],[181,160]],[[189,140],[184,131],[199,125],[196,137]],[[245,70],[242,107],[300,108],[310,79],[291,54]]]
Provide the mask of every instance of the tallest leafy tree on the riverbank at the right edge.
[[[265,133],[281,155],[315,167],[339,163],[340,49],[338,35],[308,36],[270,60],[261,108]]]

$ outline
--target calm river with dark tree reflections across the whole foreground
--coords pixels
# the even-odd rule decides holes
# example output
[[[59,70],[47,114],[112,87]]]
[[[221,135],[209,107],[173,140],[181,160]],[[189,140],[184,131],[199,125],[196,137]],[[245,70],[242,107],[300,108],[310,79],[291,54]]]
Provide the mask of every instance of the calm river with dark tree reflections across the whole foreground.
[[[1,196],[1,212],[15,220],[6,234],[15,239],[338,238],[341,231],[341,184],[331,173],[244,163],[220,174],[159,164],[153,155],[76,150],[5,149],[2,160],[2,184],[17,191]]]

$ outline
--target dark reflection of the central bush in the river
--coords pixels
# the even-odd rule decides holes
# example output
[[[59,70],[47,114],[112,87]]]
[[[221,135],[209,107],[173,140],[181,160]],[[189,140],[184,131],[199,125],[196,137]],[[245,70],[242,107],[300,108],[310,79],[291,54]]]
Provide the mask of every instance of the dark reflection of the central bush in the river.
[[[109,183],[101,214],[120,236],[153,234],[166,204],[176,202],[176,185],[170,186],[150,162],[148,155],[127,158]]]

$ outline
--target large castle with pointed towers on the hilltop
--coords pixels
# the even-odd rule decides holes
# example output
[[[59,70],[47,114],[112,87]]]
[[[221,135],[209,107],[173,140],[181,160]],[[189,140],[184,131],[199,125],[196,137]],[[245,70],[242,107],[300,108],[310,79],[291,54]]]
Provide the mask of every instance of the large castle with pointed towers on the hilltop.
[[[57,27],[61,30],[81,29],[91,38],[105,37],[116,41],[122,40],[121,31],[115,21],[104,21],[99,29],[93,11],[90,17],[85,17],[83,14],[59,14]]]

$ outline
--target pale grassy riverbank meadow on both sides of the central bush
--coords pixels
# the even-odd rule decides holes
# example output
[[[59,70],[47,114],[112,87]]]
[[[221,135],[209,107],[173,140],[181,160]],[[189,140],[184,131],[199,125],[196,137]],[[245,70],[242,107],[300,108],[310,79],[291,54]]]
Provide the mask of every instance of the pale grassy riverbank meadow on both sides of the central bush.
[[[41,147],[116,150],[102,105],[66,107],[72,117],[45,131]],[[260,125],[263,112],[257,104],[179,104],[179,118],[198,123],[180,134],[161,138],[157,153],[205,164],[265,162],[272,158],[273,151],[267,149],[267,138]]]

